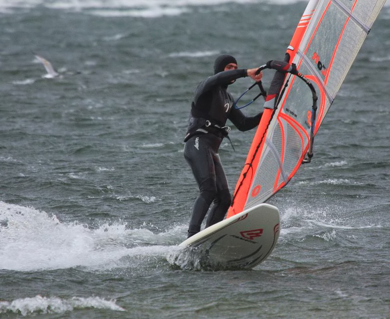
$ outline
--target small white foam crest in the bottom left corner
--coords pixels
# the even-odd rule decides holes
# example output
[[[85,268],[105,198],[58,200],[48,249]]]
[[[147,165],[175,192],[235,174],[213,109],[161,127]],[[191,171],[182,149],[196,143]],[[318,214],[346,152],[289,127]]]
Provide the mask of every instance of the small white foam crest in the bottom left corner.
[[[20,298],[13,301],[0,301],[0,314],[13,312],[22,316],[34,314],[61,314],[75,308],[97,308],[125,311],[116,304],[116,300],[105,300],[99,297],[63,299],[58,297]]]

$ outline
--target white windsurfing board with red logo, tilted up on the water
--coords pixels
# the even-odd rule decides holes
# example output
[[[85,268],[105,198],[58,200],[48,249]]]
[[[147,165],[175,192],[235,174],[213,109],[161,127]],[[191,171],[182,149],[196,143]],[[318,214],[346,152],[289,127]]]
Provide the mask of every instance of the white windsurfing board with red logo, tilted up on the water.
[[[275,206],[254,206],[179,244],[184,249],[176,255],[175,264],[202,270],[251,269],[273,251],[279,223]]]

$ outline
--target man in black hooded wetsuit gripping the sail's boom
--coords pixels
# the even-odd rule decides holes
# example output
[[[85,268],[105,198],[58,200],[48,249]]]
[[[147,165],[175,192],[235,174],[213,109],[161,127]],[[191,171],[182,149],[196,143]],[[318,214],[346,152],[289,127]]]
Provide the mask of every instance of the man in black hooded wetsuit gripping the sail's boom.
[[[211,204],[213,206],[207,217],[206,227],[223,220],[231,204],[228,182],[218,155],[222,139],[230,131],[225,126],[226,121],[231,120],[240,131],[248,131],[259,124],[262,112],[245,116],[233,107],[234,99],[227,88],[240,77],[250,76],[254,81],[260,81],[262,73],[255,75],[257,69],[238,69],[233,56],[221,55],[215,59],[214,75],[200,82],[196,88],[184,139],[184,157],[199,187],[188,237],[200,231]]]

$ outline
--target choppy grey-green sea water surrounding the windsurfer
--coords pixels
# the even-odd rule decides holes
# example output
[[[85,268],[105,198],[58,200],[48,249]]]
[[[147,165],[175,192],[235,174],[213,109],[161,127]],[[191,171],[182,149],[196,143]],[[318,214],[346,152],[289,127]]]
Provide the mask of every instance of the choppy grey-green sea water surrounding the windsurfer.
[[[197,82],[219,53],[282,58],[306,4],[0,1],[0,318],[390,318],[388,5],[312,163],[269,201],[273,254],[252,271],[169,262],[196,197],[182,139]],[[253,133],[221,147],[232,189]]]

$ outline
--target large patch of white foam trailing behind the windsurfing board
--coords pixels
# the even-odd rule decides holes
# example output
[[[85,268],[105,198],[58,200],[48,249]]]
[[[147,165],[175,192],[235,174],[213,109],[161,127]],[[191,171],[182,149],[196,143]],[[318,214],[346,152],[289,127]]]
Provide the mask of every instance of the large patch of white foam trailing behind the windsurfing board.
[[[137,267],[150,257],[164,259],[175,244],[172,236],[177,237],[177,230],[173,234],[128,229],[126,223],[90,229],[62,223],[56,215],[34,208],[0,202],[0,269]]]

